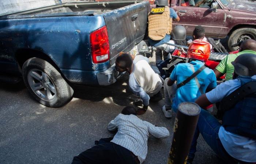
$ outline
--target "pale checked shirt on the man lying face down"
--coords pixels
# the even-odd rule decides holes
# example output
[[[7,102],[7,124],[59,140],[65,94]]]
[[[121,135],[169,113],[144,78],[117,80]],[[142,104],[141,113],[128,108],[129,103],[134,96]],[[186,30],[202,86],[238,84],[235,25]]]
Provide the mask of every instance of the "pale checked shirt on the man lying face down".
[[[166,138],[170,135],[165,127],[155,126],[147,121],[140,120],[137,116],[130,114],[118,114],[108,125],[108,130],[118,129],[111,142],[118,144],[138,157],[140,163],[147,156],[147,140],[149,133],[156,138]]]

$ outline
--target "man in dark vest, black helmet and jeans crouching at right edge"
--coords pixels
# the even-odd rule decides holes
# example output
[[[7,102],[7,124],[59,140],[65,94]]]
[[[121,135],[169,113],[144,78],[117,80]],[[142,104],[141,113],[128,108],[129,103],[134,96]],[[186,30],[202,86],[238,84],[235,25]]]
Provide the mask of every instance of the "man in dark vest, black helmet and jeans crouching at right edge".
[[[242,54],[231,63],[233,80],[221,83],[195,101],[201,108],[221,102],[223,123],[201,110],[187,164],[195,157],[199,133],[226,163],[256,163],[256,55]]]

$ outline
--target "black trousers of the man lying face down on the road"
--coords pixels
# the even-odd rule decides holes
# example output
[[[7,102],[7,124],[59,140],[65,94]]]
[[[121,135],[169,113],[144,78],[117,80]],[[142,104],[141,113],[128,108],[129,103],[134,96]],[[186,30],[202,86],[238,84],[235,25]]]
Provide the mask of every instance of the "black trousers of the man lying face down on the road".
[[[128,149],[113,142],[102,143],[75,156],[72,164],[137,164],[138,158]],[[107,140],[105,140],[107,141]]]

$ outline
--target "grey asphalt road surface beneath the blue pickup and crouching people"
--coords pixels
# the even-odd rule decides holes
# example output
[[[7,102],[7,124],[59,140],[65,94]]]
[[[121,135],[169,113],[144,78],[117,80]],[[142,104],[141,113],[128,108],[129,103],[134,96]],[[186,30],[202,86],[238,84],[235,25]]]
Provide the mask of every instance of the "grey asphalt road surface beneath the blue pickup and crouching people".
[[[134,99],[127,78],[106,87],[75,86],[74,98],[62,108],[48,108],[30,96],[23,83],[0,83],[0,163],[68,164],[74,156],[93,147],[94,141],[109,137],[108,123]],[[163,100],[151,103],[139,116],[165,126],[171,136],[159,140],[150,136],[144,164],[166,164],[170,150],[175,114],[163,116]],[[195,164],[221,161],[199,138]]]

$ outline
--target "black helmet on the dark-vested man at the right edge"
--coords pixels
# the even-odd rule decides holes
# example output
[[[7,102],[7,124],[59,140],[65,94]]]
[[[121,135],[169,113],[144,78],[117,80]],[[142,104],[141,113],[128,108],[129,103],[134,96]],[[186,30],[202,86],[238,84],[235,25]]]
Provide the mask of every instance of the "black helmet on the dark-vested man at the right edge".
[[[256,55],[251,53],[245,53],[237,56],[234,62],[231,62],[234,66],[234,73],[241,76],[253,76],[256,75]]]

